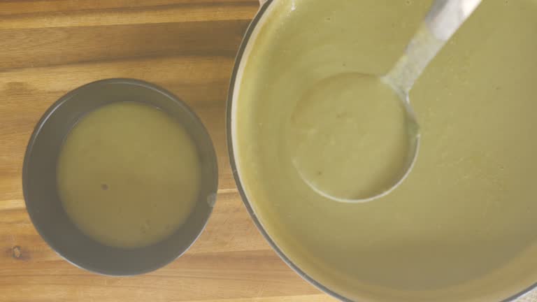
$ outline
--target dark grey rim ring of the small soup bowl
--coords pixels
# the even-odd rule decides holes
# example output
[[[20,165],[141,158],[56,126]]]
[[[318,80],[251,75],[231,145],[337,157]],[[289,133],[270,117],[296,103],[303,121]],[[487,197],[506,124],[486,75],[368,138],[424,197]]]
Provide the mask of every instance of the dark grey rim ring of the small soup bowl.
[[[58,250],[57,246],[54,243],[54,240],[52,240],[51,237],[48,236],[43,231],[41,226],[36,223],[36,209],[34,209],[35,206],[31,206],[29,204],[29,201],[28,201],[28,199],[29,199],[29,184],[28,184],[28,182],[29,182],[29,159],[30,159],[31,154],[33,152],[34,143],[36,142],[36,138],[41,133],[41,129],[43,128],[43,126],[48,122],[50,117],[55,113],[55,111],[58,108],[60,108],[64,103],[66,103],[67,101],[72,99],[73,96],[76,96],[76,94],[78,94],[80,92],[83,92],[88,87],[98,86],[98,85],[110,85],[110,84],[136,85],[136,86],[139,86],[139,87],[143,87],[145,89],[151,89],[151,90],[153,90],[155,92],[158,92],[160,94],[163,94],[167,98],[171,99],[174,103],[176,103],[177,106],[179,106],[189,116],[191,116],[192,119],[194,120],[194,122],[197,124],[197,127],[199,127],[199,130],[201,131],[201,135],[205,137],[204,140],[206,140],[208,142],[208,147],[209,147],[208,149],[210,149],[210,150],[208,150],[208,152],[210,152],[210,161],[211,161],[211,163],[210,163],[211,167],[210,168],[212,170],[212,174],[214,175],[213,182],[210,184],[210,189],[211,189],[212,192],[214,192],[214,194],[212,194],[210,196],[210,199],[212,199],[212,200],[207,201],[208,204],[209,204],[208,213],[204,217],[202,227],[200,229],[196,230],[196,235],[194,236],[194,239],[192,240],[192,243],[187,245],[187,247],[185,249],[178,250],[178,253],[174,257],[169,257],[169,259],[165,259],[164,261],[161,261],[157,265],[148,266],[147,268],[135,270],[134,273],[121,273],[119,271],[118,272],[107,271],[106,269],[102,270],[102,269],[95,268],[95,267],[83,266],[82,264],[78,264],[76,261],[73,261],[73,260],[69,259],[68,257],[66,257],[66,255],[64,253],[62,253],[62,252],[60,252]],[[215,202],[216,202],[216,197],[217,197],[218,180],[219,180],[218,179],[218,162],[217,162],[217,156],[216,156],[216,152],[215,152],[214,143],[213,143],[213,140],[210,137],[210,134],[209,134],[205,124],[203,124],[203,122],[201,121],[199,116],[196,115],[196,113],[194,113],[194,110],[192,110],[192,108],[190,108],[187,105],[187,103],[185,103],[185,101],[182,101],[177,96],[175,96],[174,94],[172,94],[168,90],[164,89],[163,87],[160,87],[158,85],[152,84],[150,82],[146,82],[144,80],[138,80],[138,79],[134,79],[134,78],[106,78],[106,79],[102,79],[102,80],[96,80],[96,81],[93,81],[93,82],[89,82],[89,83],[87,83],[85,85],[81,85],[79,87],[76,87],[75,89],[72,89],[71,91],[67,92],[66,94],[61,96],[59,99],[57,99],[57,101],[52,103],[52,105],[50,105],[48,107],[48,109],[45,110],[45,113],[43,113],[43,115],[41,115],[41,118],[36,123],[36,126],[34,127],[34,130],[32,131],[31,136],[29,138],[29,141],[27,143],[27,148],[26,148],[26,151],[24,152],[24,160],[22,162],[22,195],[24,197],[24,206],[25,206],[26,211],[27,211],[27,213],[28,213],[28,215],[30,217],[31,224],[34,225],[34,228],[38,232],[39,236],[41,236],[41,238],[43,238],[43,240],[45,240],[45,243],[47,243],[47,245],[56,254],[58,254],[59,257],[62,257],[62,259],[64,259],[65,261],[69,262],[73,266],[76,266],[78,268],[82,268],[83,270],[89,271],[91,273],[96,273],[96,274],[99,274],[99,275],[107,275],[107,276],[117,276],[117,277],[142,275],[142,274],[145,274],[145,273],[150,273],[152,271],[156,271],[159,268],[163,268],[164,266],[166,266],[168,264],[171,264],[171,262],[175,261],[176,259],[181,257],[183,254],[185,254],[185,252],[187,252],[192,247],[192,245],[194,245],[194,243],[196,243],[196,240],[198,240],[199,236],[201,236],[201,233],[203,233],[203,231],[206,229],[208,221],[210,219],[210,216],[213,214],[213,210],[214,210],[214,206],[215,206]],[[198,201],[198,202],[200,202],[200,201]]]

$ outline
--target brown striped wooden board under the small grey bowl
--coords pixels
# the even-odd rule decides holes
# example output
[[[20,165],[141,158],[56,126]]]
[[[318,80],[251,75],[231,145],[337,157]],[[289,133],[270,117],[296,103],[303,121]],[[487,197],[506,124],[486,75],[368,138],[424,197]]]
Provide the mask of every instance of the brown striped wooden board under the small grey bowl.
[[[224,108],[234,56],[257,0],[0,1],[0,301],[256,301],[334,299],[271,250],[238,196]],[[110,278],[57,256],[29,221],[24,149],[48,106],[103,78],[171,90],[206,124],[217,149],[215,212],[195,245],[147,275]]]

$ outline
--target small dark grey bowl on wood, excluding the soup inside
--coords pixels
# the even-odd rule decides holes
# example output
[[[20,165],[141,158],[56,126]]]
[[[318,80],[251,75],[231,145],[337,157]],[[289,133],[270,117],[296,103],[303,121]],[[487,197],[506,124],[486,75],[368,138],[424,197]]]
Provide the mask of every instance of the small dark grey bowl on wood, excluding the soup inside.
[[[199,199],[187,222],[161,242],[131,250],[102,245],[82,233],[66,215],[56,185],[56,163],[66,135],[86,113],[118,101],[147,103],[178,120],[196,143],[201,161]],[[41,117],[24,156],[22,188],[31,222],[60,256],[94,273],[137,275],[169,264],[199,237],[213,211],[217,171],[210,136],[185,103],[148,82],[108,79],[69,92]],[[177,198],[180,199],[181,196]]]

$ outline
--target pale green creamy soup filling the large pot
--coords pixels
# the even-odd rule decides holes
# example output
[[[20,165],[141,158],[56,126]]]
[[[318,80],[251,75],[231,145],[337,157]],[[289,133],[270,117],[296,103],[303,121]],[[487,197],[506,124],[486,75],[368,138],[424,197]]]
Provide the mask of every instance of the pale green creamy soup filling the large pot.
[[[368,126],[401,113],[345,95],[392,67],[430,4],[275,0],[238,75],[245,193],[287,257],[350,299],[500,301],[537,281],[536,0],[483,1],[417,80],[422,145],[394,192],[338,203],[305,181],[375,189],[398,165],[403,131]]]

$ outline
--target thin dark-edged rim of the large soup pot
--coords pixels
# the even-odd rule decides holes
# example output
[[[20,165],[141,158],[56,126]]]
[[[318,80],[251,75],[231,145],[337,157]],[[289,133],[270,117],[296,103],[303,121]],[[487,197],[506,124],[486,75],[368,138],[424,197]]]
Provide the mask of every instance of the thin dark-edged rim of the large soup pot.
[[[262,26],[262,24],[260,23],[262,17],[264,16],[266,11],[268,10],[269,6],[271,6],[271,4],[274,3],[275,1],[277,1],[277,0],[266,0],[266,2],[264,2],[262,4],[262,6],[259,8],[259,10],[257,11],[257,14],[253,18],[252,22],[250,22],[250,25],[248,26],[248,29],[246,30],[246,32],[245,32],[245,34],[243,36],[243,40],[241,42],[241,45],[240,45],[240,47],[238,49],[238,52],[237,52],[237,55],[236,55],[236,58],[235,58],[234,68],[233,68],[233,71],[231,73],[231,80],[229,82],[229,89],[228,89],[228,94],[227,94],[227,105],[226,105],[226,141],[227,141],[227,150],[228,150],[228,154],[229,154],[229,164],[231,165],[231,171],[233,173],[233,177],[235,179],[238,192],[241,195],[241,199],[243,201],[243,204],[244,204],[246,210],[248,210],[248,214],[250,214],[250,217],[254,221],[255,226],[257,227],[259,232],[262,233],[262,236],[268,242],[268,245],[270,245],[272,247],[272,249],[285,262],[285,264],[287,264],[287,266],[292,268],[292,270],[295,273],[300,275],[300,277],[303,278],[303,280],[306,280],[311,285],[313,285],[314,287],[317,287],[317,289],[320,289],[322,292],[328,294],[329,296],[332,296],[332,297],[334,297],[334,298],[336,298],[336,299],[338,299],[340,301],[344,301],[344,302],[357,302],[357,301],[352,301],[351,299],[348,299],[347,297],[345,297],[345,296],[343,296],[341,294],[338,294],[338,293],[334,292],[333,290],[329,289],[328,287],[325,287],[324,285],[322,285],[320,282],[315,280],[313,277],[308,275],[306,272],[302,271],[301,268],[299,268],[299,266],[294,264],[294,262],[291,261],[291,259],[289,259],[287,257],[287,255],[285,255],[285,253],[282,252],[282,250],[280,250],[280,247],[278,247],[278,245],[276,245],[275,241],[271,238],[271,236],[268,235],[268,233],[264,229],[262,223],[259,221],[259,218],[255,214],[255,211],[252,208],[252,204],[250,203],[248,197],[246,196],[245,189],[243,187],[243,183],[241,182],[241,177],[238,174],[238,166],[236,164],[236,159],[235,159],[236,155],[235,155],[235,150],[234,150],[234,146],[233,146],[234,133],[233,133],[233,129],[231,127],[231,124],[233,124],[233,120],[234,120],[232,108],[233,108],[233,104],[234,104],[234,94],[236,92],[235,91],[236,90],[236,82],[237,82],[237,78],[238,78],[238,73],[239,73],[239,71],[241,69],[241,63],[243,62],[243,59],[248,57],[248,55],[245,54],[245,50],[246,50],[247,46],[250,44],[250,41],[251,41],[250,38],[252,38],[255,29],[257,29],[258,26]],[[529,292],[531,292],[534,289],[537,289],[537,282],[534,283],[534,285],[531,285],[530,287],[528,287],[527,289],[522,290],[522,292],[519,292],[519,293],[517,293],[517,294],[515,294],[513,296],[510,296],[507,299],[503,299],[503,300],[501,300],[499,302],[514,302],[515,299],[521,298],[522,296],[524,296],[526,294],[529,294]]]

